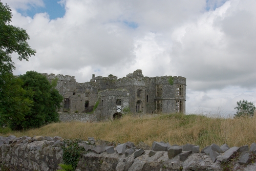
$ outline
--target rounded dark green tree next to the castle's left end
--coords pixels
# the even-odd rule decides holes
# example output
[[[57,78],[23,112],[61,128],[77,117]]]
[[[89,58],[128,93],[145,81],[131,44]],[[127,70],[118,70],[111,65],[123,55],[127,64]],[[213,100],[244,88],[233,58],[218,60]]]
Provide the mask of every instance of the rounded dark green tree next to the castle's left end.
[[[16,124],[15,129],[30,129],[57,122],[59,120],[57,109],[60,108],[63,98],[46,76],[35,71],[28,71],[26,74],[20,75],[19,78],[24,82],[23,89],[32,92],[33,105],[30,112],[24,116],[25,120]]]

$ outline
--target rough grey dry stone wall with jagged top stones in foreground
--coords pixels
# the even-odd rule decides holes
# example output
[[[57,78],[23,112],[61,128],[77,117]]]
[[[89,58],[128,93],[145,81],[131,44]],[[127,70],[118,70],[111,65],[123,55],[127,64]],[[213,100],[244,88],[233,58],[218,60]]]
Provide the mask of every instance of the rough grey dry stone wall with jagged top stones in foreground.
[[[1,170],[57,170],[65,147],[61,137],[0,137]],[[81,141],[84,153],[76,171],[82,170],[256,170],[256,143],[242,147],[211,144],[170,145],[154,141],[115,144],[102,140]],[[254,159],[253,159],[254,157]]]

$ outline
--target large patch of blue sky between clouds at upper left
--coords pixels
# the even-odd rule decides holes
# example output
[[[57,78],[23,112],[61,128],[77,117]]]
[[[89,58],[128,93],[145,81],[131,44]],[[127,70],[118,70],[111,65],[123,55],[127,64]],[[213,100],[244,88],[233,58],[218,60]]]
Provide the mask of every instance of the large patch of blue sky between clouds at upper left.
[[[58,3],[60,0],[44,0],[45,7],[33,7],[24,11],[22,9],[17,9],[17,11],[25,16],[34,17],[36,13],[44,13],[47,12],[49,14],[50,19],[56,19],[58,17],[63,17],[65,14],[65,7],[61,6]]]

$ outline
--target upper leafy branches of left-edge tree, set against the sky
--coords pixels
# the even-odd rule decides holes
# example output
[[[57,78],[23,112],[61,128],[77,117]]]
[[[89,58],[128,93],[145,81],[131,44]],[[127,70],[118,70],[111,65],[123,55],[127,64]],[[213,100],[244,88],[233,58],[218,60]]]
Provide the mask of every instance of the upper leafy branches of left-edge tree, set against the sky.
[[[10,54],[17,53],[19,60],[28,60],[36,53],[27,42],[29,35],[26,30],[10,25],[11,18],[10,7],[0,2],[0,76],[15,69]]]

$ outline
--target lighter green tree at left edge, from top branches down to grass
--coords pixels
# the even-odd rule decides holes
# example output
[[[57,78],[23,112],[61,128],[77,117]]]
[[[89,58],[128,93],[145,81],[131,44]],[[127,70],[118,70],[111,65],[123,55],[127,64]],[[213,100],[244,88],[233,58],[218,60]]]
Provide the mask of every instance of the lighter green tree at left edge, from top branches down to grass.
[[[15,69],[11,54],[16,53],[19,60],[28,60],[36,51],[31,49],[26,30],[10,25],[11,9],[0,2],[0,125],[15,127],[30,111],[31,92],[22,88],[21,79],[13,76]]]

